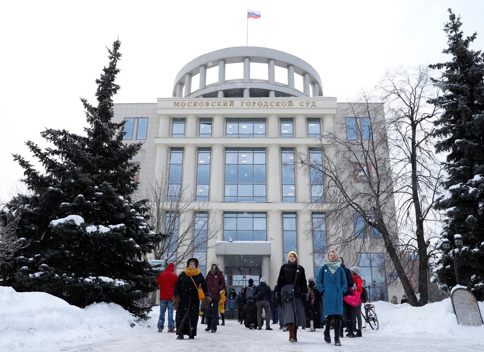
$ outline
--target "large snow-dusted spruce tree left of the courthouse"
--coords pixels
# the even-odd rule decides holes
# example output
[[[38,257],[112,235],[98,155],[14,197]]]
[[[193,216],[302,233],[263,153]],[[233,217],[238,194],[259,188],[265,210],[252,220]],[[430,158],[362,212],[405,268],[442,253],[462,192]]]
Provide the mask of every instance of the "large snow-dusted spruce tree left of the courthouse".
[[[145,201],[131,200],[138,168],[129,160],[141,144],[123,144],[123,124],[111,121],[119,47],[117,40],[108,49],[109,65],[96,80],[97,107],[81,99],[86,136],[46,129],[41,135],[52,147],[27,142],[44,173],[14,156],[30,194],[17,195],[7,207],[19,218],[18,237],[30,243],[1,268],[0,284],[44,291],[78,307],[114,302],[145,318],[147,310],[136,301],[156,289],[143,260],[154,234],[145,222]]]

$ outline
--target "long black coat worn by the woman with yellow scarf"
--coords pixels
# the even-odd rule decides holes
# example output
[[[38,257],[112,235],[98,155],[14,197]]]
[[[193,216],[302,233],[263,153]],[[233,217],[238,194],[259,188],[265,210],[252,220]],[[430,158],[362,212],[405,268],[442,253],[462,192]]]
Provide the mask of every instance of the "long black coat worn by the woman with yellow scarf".
[[[195,281],[196,287],[192,278]],[[179,298],[180,304],[175,317],[177,335],[196,336],[196,325],[198,323],[199,300],[197,287],[201,284],[205,296],[210,297],[207,282],[202,274],[192,276],[181,273],[175,283],[173,298]]]

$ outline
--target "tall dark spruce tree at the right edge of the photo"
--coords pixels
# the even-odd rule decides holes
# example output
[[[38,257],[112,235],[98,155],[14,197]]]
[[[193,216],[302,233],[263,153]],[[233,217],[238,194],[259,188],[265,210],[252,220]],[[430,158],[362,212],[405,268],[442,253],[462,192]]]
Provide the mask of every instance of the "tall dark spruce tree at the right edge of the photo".
[[[467,286],[484,300],[484,56],[470,49],[477,34],[464,38],[460,17],[449,9],[450,21],[445,24],[451,55],[445,63],[431,65],[443,70],[435,83],[443,95],[431,100],[444,112],[436,121],[436,151],[448,153],[447,190],[436,202],[436,208],[446,213],[442,240],[454,241],[462,236],[464,244],[457,254],[461,285]],[[443,251],[437,262],[434,278],[447,289],[455,285],[451,252]]]

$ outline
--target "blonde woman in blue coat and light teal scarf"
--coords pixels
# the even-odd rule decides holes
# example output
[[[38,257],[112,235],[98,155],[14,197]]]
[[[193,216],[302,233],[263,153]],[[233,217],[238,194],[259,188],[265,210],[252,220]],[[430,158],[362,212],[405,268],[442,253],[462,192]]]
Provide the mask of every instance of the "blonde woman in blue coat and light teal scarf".
[[[339,328],[341,326],[341,315],[343,314],[343,292],[346,292],[346,275],[341,268],[339,255],[336,251],[328,252],[323,267],[319,270],[316,278],[316,286],[323,295],[323,312],[326,316],[324,329],[324,341],[331,343],[330,328],[335,322],[335,345],[341,346],[339,342]]]

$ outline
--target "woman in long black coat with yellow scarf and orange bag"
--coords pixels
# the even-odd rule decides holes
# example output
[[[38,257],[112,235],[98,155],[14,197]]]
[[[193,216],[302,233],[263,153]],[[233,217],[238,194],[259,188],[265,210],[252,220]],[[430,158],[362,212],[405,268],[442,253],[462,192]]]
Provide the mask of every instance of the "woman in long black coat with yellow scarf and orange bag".
[[[198,323],[198,287],[205,293],[205,306],[212,300],[208,291],[207,282],[200,273],[198,260],[190,258],[185,269],[175,282],[173,293],[173,308],[177,311],[175,323],[177,328],[177,340],[183,340],[183,335],[188,335],[189,339],[196,336],[196,324]]]

